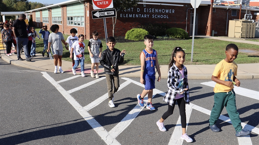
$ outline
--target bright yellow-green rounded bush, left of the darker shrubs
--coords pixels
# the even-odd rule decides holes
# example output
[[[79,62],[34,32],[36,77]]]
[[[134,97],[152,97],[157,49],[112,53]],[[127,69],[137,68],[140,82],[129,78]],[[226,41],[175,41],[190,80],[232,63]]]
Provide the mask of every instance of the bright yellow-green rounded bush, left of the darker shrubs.
[[[125,35],[125,39],[128,40],[143,40],[144,36],[148,35],[148,32],[141,28],[134,28],[129,31],[127,31]]]

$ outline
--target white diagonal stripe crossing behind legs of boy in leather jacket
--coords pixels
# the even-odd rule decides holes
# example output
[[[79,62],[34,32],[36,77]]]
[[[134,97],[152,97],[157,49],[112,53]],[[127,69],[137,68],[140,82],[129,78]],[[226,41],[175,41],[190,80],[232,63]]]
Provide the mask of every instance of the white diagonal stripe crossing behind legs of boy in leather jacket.
[[[126,87],[130,83],[131,83],[130,81],[125,81],[124,83],[122,83],[120,85],[118,91],[121,90],[122,88]],[[94,100],[90,104],[86,105],[84,108],[86,109],[86,111],[89,111],[90,109],[92,109],[92,108],[96,107],[97,105],[99,105],[100,103],[102,103],[107,98],[108,98],[108,93],[106,93],[103,96],[99,97],[98,99]],[[114,97],[114,99],[115,99],[115,97]]]

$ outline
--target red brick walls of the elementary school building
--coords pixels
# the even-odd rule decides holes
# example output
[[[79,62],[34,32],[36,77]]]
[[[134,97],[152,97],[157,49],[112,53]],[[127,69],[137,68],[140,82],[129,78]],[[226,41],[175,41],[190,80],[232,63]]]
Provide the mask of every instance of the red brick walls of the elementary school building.
[[[168,4],[172,4],[172,3],[168,3]],[[146,7],[144,7],[142,4],[139,4],[137,5],[137,7],[132,7],[125,11],[118,11],[117,23],[115,26],[115,36],[125,36],[126,32],[132,28],[136,28],[138,26],[144,26],[148,24],[154,24],[154,23],[167,23],[168,26],[170,27],[177,27],[185,30],[186,11],[188,8],[192,8],[192,6],[191,4],[188,4],[188,3],[173,3],[173,4],[184,5],[184,6],[146,5]],[[85,34],[86,39],[92,38],[93,31],[98,31],[100,38],[105,37],[103,19],[92,19],[92,11],[94,11],[92,3],[89,3],[89,1],[86,1],[85,28],[80,26],[68,26],[67,16],[66,16],[66,5],[61,5],[61,7],[63,8],[62,23],[64,25],[64,30],[62,25],[60,24],[59,32],[63,32],[64,34],[70,35],[70,29],[73,27],[77,27],[78,34]],[[231,16],[230,9],[226,10],[226,9],[216,8],[216,12],[212,12],[212,9],[213,9],[212,5],[199,6],[196,9],[196,13],[198,14],[197,34],[211,36],[211,31],[214,30],[215,32],[217,32],[217,34],[214,34],[214,36],[226,36],[227,12],[228,12],[228,20],[232,20],[232,19],[239,18],[239,10],[237,10],[237,16]],[[49,10],[51,11],[51,8],[49,8]],[[39,11],[41,12],[41,10]],[[89,16],[87,16],[87,13],[89,13]],[[190,32],[191,13],[194,13],[194,9],[188,10],[188,17],[187,17],[188,34]],[[243,14],[241,13],[241,18],[243,17]],[[252,11],[252,15],[253,14],[254,12]],[[258,15],[253,15],[253,18],[258,19]],[[33,12],[33,21],[34,21],[33,22],[34,25],[37,27],[37,22],[35,22],[35,11]],[[39,24],[39,26],[42,27],[45,24],[48,26],[48,30],[49,30],[50,26],[52,25],[51,12],[49,12],[49,23],[42,23],[42,18],[41,18],[41,23]],[[106,28],[107,28],[107,35],[112,36],[113,21],[111,17],[106,18]]]

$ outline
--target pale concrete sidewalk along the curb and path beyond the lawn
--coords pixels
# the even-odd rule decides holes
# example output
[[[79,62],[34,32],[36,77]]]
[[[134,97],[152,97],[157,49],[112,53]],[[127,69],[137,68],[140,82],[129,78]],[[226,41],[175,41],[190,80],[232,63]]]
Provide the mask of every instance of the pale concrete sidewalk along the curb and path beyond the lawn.
[[[231,39],[231,38],[220,38],[220,37],[211,37],[211,36],[197,36],[197,37],[259,45],[259,42],[237,40],[237,39]],[[3,46],[5,47],[5,44]],[[21,54],[21,57],[24,60],[20,61],[20,60],[17,60],[17,55],[7,56],[4,54],[4,50],[1,50],[1,49],[0,49],[0,52],[1,52],[1,58],[9,64],[13,64],[13,65],[24,67],[24,68],[30,68],[30,69],[34,69],[34,70],[40,70],[40,71],[49,71],[49,72],[54,73],[54,61],[50,60],[46,56],[43,57],[41,54],[36,54],[36,57],[33,57],[31,59],[31,61],[27,62],[27,61],[25,61],[24,54]],[[211,79],[211,76],[212,76],[212,73],[214,71],[216,64],[185,65],[185,66],[188,69],[188,79]],[[77,68],[78,68],[77,74],[80,75],[81,74],[80,66],[78,66]],[[65,71],[65,73],[70,73],[71,76],[73,76],[71,69],[72,69],[72,62],[62,60],[62,70]],[[85,64],[86,76],[90,75],[90,70],[91,70],[91,64]],[[160,70],[161,70],[161,78],[167,79],[168,66],[161,65]],[[100,76],[104,76],[104,68],[102,66],[99,66],[98,74]],[[120,77],[140,77],[140,66],[119,66],[119,76]],[[238,79],[258,79],[259,78],[259,63],[238,64],[237,78]]]

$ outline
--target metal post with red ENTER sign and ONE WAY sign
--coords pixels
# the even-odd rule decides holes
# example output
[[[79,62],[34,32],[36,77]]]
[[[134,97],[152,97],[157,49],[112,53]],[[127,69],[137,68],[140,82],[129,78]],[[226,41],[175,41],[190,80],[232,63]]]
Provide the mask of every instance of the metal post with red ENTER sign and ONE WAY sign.
[[[93,0],[93,9],[108,9],[108,10],[102,10],[102,11],[92,11],[92,18],[93,19],[99,19],[103,18],[104,23],[104,32],[105,32],[105,42],[107,43],[107,29],[106,29],[106,17],[115,17],[115,9],[113,11],[109,8],[113,8],[113,0]],[[94,13],[93,13],[94,12]],[[95,16],[95,18],[94,18]],[[108,49],[108,46],[106,45],[106,48]]]

